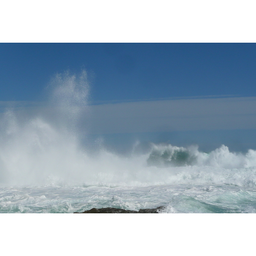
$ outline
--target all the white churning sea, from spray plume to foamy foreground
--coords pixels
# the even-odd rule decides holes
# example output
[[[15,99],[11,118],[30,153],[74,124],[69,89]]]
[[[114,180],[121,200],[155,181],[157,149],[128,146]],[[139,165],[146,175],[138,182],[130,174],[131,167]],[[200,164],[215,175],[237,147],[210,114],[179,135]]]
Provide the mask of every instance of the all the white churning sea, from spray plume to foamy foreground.
[[[57,74],[47,92],[44,107],[1,113],[1,213],[159,206],[160,213],[256,212],[256,151],[151,143],[144,152],[137,142],[118,154],[87,143],[81,132],[81,116],[90,114],[86,71]]]

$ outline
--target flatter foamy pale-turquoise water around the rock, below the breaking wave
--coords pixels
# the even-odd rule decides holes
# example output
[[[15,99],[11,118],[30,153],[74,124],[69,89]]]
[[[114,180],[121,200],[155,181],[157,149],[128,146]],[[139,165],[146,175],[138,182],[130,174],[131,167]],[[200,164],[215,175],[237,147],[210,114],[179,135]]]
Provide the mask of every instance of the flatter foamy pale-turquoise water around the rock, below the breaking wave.
[[[1,213],[73,213],[93,207],[163,213],[255,213],[256,188],[233,185],[38,186],[0,189]]]

